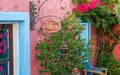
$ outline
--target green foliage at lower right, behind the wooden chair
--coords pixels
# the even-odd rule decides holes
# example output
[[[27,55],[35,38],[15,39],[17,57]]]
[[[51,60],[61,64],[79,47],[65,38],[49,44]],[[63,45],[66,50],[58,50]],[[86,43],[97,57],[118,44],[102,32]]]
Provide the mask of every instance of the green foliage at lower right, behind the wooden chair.
[[[113,47],[109,45],[108,41],[101,44],[100,51],[97,58],[97,66],[108,69],[108,75],[120,74],[120,62],[117,62],[113,53]]]

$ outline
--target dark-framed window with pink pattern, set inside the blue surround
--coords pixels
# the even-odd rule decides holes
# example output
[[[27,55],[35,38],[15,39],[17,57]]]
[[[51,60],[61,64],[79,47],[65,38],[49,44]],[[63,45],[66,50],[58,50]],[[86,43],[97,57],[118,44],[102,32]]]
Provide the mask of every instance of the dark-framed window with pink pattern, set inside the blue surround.
[[[13,75],[12,25],[0,24],[0,75]]]

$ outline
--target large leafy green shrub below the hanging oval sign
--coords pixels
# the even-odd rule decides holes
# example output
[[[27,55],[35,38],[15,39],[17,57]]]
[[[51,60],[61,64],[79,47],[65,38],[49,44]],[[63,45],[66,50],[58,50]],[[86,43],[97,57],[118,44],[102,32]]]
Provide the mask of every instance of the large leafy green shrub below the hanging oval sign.
[[[87,50],[88,52],[90,49],[89,46],[85,46],[84,40],[80,36],[84,27],[78,23],[76,16],[73,14],[67,15],[61,25],[60,31],[52,33],[49,39],[45,39],[36,46],[36,49],[39,50],[36,57],[40,66],[45,67],[39,71],[40,73],[73,75],[72,70],[74,68],[78,68],[78,71],[83,70],[82,61],[89,58],[88,53],[81,56],[83,51]],[[60,52],[63,41],[67,45],[65,55]]]

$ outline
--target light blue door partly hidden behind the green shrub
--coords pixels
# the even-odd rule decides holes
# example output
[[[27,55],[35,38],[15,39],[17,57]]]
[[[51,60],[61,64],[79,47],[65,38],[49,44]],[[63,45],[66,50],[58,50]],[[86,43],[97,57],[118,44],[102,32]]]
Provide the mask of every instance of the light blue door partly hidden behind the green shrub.
[[[90,69],[91,68],[91,59],[90,59],[89,41],[90,41],[91,25],[90,25],[89,21],[85,22],[85,23],[80,23],[80,25],[82,25],[85,28],[82,31],[82,33],[80,33],[80,36],[84,40],[85,48],[86,48],[86,51],[82,52],[81,55],[82,56],[87,55],[86,59],[83,61],[83,64],[86,69]],[[87,73],[87,75],[91,75],[91,74]]]

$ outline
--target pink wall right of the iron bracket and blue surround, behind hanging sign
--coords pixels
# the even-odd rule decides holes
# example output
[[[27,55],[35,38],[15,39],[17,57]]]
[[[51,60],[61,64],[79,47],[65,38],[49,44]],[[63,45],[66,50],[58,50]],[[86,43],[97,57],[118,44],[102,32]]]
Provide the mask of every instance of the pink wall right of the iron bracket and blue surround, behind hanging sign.
[[[43,6],[43,13],[41,16],[47,15],[55,15],[58,17],[63,17],[67,11],[71,11],[72,2],[71,0],[64,0],[66,2],[66,9],[60,11],[60,0],[48,0]],[[52,3],[52,4],[51,4]],[[64,4],[61,4],[64,6]],[[36,27],[39,27],[40,24],[37,24]],[[34,36],[34,37],[33,37]],[[31,31],[31,75],[47,75],[46,74],[39,74],[38,70],[42,67],[39,67],[39,62],[35,57],[37,51],[35,50],[35,46],[38,40],[44,40],[44,36],[42,34],[37,35],[35,31]]]

